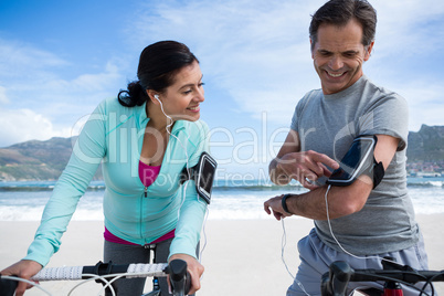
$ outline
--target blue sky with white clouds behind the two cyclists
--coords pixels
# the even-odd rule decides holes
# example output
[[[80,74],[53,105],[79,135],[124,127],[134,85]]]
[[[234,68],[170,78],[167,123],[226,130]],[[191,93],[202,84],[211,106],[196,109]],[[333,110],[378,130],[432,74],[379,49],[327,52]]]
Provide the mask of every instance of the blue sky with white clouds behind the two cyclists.
[[[220,177],[260,177],[297,102],[320,88],[308,25],[324,2],[0,0],[0,147],[77,135],[136,80],[145,46],[176,40],[200,61]],[[378,27],[364,74],[405,97],[409,130],[444,125],[444,2],[370,2]]]

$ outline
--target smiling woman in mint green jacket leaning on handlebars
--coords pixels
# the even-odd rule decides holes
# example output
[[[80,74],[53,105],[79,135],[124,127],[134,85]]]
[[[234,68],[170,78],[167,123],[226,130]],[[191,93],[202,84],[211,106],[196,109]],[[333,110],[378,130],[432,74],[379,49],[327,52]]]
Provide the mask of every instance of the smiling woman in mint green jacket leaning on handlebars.
[[[207,150],[208,127],[199,121],[204,101],[199,61],[175,41],[147,46],[138,80],[118,98],[102,102],[85,124],[64,172],[47,202],[27,257],[2,271],[30,278],[45,266],[98,165],[103,163],[105,262],[188,263],[191,290],[200,288],[203,266],[197,246],[207,203],[193,183],[180,186],[180,172]],[[120,279],[118,295],[141,295],[144,279]],[[162,295],[168,293],[166,279]],[[17,295],[23,295],[19,284]]]

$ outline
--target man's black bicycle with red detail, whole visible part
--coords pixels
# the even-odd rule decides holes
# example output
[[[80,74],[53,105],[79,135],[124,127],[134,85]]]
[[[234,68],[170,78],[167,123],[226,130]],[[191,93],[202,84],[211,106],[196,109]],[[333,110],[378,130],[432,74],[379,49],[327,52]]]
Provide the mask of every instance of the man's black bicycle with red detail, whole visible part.
[[[330,265],[329,272],[321,278],[323,296],[343,296],[350,282],[385,282],[383,290],[378,288],[359,289],[366,295],[402,296],[400,284],[414,287],[414,284],[425,282],[422,288],[414,287],[419,295],[427,294],[425,288],[430,285],[432,295],[434,287],[432,282],[444,282],[444,271],[415,271],[408,265],[382,260],[383,269],[353,269],[347,262],[337,261]]]

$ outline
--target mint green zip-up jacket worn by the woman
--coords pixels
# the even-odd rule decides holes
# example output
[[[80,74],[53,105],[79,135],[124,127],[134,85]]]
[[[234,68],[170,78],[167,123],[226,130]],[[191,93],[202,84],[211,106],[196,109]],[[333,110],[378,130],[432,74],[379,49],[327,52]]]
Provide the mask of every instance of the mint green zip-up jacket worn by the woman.
[[[101,162],[106,186],[105,226],[140,245],[176,229],[170,255],[195,257],[207,203],[197,194],[194,181],[180,186],[179,177],[187,161],[193,167],[208,150],[208,127],[201,120],[176,121],[159,176],[145,188],[138,166],[148,121],[145,104],[128,108],[113,98],[97,106],[74,145],[25,260],[45,266],[57,252],[62,234]]]

